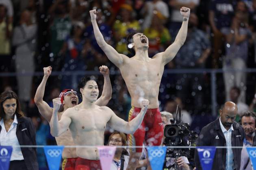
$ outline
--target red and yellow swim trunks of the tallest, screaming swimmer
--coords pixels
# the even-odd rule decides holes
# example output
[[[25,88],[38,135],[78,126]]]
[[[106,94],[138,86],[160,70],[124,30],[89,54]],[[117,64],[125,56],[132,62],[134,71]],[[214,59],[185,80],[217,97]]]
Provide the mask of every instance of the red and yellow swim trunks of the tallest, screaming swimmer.
[[[141,111],[141,108],[132,106],[129,112],[129,121],[135,118]],[[160,146],[163,140],[163,121],[158,108],[149,108],[144,116],[141,126],[132,134],[128,134],[130,146]],[[132,152],[142,152],[141,148],[131,148]]]

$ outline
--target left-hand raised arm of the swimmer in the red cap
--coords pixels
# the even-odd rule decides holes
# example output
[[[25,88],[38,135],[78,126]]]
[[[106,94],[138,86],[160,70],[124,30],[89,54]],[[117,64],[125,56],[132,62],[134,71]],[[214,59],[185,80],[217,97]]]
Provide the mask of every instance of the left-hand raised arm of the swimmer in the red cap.
[[[37,105],[37,108],[39,110],[39,113],[48,121],[50,122],[51,117],[52,117],[52,108],[45,102],[43,101],[43,95],[46,87],[46,82],[48,77],[52,73],[52,67],[44,67],[43,68],[43,80],[41,81],[40,85],[37,87],[37,92],[35,94],[35,104]]]

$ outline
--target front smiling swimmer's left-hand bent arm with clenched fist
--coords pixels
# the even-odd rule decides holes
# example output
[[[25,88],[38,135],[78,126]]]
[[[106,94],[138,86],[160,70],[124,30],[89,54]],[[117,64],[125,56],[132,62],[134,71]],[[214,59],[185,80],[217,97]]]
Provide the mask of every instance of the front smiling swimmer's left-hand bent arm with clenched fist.
[[[52,136],[60,136],[63,134],[71,123],[71,118],[68,116],[70,112],[70,108],[68,108],[61,116],[61,120],[58,119],[58,110],[61,106],[61,100],[59,98],[55,98],[52,100],[53,102],[53,113],[52,119],[50,121],[51,134]]]

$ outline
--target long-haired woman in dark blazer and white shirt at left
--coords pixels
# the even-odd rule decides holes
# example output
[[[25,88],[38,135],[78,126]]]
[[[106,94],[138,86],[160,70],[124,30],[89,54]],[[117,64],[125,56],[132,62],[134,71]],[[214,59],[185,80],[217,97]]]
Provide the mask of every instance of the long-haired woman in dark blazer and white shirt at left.
[[[0,95],[0,145],[36,145],[35,127],[13,91]],[[36,148],[13,147],[9,170],[38,170]]]

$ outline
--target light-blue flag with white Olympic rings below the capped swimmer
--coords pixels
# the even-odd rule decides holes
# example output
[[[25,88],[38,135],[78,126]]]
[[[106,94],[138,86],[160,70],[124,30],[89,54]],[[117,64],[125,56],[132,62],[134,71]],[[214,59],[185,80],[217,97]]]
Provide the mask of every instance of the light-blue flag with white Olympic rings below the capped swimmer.
[[[43,147],[49,170],[59,170],[63,148],[63,146]]]

